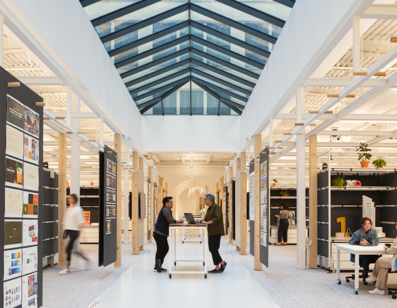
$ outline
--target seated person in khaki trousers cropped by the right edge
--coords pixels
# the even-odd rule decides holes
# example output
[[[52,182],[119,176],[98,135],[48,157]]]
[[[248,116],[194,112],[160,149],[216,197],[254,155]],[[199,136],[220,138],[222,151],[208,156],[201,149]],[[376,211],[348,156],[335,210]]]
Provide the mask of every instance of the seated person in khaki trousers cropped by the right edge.
[[[397,229],[397,222],[395,225]],[[389,245],[390,246],[384,245],[383,249],[385,249],[388,253],[393,254],[393,257],[380,257],[378,260],[376,260],[372,275],[367,279],[369,282],[376,281],[376,288],[372,291],[368,291],[371,294],[384,295],[386,284],[388,282],[389,268],[392,269],[392,272],[397,270],[395,267],[397,257],[397,237],[395,238],[393,244]]]

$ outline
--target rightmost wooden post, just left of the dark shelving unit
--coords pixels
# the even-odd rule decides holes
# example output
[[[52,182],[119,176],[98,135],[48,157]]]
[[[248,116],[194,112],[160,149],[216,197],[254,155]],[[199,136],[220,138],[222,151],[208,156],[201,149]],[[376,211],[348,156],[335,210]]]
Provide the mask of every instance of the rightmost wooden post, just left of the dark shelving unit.
[[[317,135],[309,136],[310,268],[317,268]]]

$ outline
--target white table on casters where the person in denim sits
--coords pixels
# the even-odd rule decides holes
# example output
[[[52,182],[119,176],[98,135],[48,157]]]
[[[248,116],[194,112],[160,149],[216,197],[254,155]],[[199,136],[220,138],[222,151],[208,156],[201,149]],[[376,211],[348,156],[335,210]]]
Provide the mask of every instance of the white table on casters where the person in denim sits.
[[[358,294],[358,270],[360,268],[360,265],[358,264],[358,260],[360,258],[360,254],[371,254],[371,255],[376,255],[376,254],[389,254],[385,249],[383,249],[384,244],[380,244],[378,246],[361,246],[361,245],[346,245],[346,244],[342,244],[342,245],[336,245],[336,283],[338,285],[341,284],[340,282],[340,250],[346,251],[346,252],[350,252],[353,253],[355,255],[355,260],[356,262],[354,262],[354,275],[355,275],[355,279],[354,279],[354,292],[356,294]]]

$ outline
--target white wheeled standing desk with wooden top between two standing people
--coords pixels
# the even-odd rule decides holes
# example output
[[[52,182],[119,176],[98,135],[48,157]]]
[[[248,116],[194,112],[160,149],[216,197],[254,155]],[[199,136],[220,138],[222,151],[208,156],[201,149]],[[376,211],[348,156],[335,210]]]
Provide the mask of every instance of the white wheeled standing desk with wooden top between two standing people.
[[[203,234],[202,241],[203,241],[203,252],[202,252],[202,259],[201,260],[177,260],[177,230],[183,229],[190,229],[192,231],[198,229],[200,234]],[[207,265],[205,264],[205,258],[207,256],[206,251],[206,242],[207,242],[207,225],[206,224],[196,224],[196,225],[189,225],[189,224],[171,224],[169,226],[169,234],[171,236],[171,231],[174,230],[174,266],[177,266],[177,262],[202,262],[202,266],[204,267],[203,271],[172,271],[172,260],[171,256],[169,258],[170,265],[168,271],[168,277],[171,279],[172,274],[204,274],[204,278],[207,278]],[[172,240],[171,240],[172,241]]]

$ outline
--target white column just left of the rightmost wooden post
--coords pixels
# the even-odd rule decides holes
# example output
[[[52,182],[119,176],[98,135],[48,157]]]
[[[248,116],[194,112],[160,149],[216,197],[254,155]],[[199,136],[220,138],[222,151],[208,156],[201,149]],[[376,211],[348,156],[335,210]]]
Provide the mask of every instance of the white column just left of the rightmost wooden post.
[[[302,120],[305,110],[304,88],[298,86],[296,93],[296,122]],[[297,217],[297,268],[304,269],[306,261],[306,183],[305,183],[305,130],[296,136],[296,217]]]

